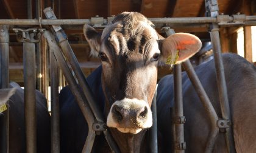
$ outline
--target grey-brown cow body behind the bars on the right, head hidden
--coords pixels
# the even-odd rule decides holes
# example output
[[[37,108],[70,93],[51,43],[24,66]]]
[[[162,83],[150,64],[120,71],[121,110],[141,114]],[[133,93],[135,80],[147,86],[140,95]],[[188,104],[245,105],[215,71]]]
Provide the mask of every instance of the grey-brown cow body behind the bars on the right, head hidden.
[[[232,115],[233,135],[236,152],[256,151],[256,68],[244,58],[234,54],[222,55],[227,94],[229,95],[230,112]],[[221,117],[218,89],[215,77],[214,61],[208,61],[196,67],[196,73]],[[185,123],[186,152],[204,152],[210,121],[204,107],[197,96],[190,79],[182,73],[183,107],[187,118]],[[168,75],[158,83],[157,89],[157,122],[163,152],[171,151],[171,110],[174,104],[173,76]],[[213,152],[226,152],[224,134],[219,134]]]

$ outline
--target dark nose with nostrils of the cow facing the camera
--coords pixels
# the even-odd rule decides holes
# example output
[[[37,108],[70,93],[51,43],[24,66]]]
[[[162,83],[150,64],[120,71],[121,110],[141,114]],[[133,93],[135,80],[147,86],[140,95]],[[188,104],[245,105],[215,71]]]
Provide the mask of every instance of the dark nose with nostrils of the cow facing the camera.
[[[115,105],[112,109],[113,117],[118,122],[141,123],[144,121],[148,108],[146,106],[136,108],[124,108],[124,106]]]

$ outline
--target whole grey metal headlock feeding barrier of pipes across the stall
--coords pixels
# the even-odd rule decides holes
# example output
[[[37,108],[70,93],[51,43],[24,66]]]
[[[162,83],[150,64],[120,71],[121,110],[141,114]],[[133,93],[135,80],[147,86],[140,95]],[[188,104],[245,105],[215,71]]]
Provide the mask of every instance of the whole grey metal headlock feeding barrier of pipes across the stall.
[[[208,137],[205,152],[212,152],[215,140],[219,131],[226,134],[226,145],[229,152],[235,152],[235,145],[232,134],[232,123],[230,121],[229,101],[227,98],[226,80],[224,77],[224,66],[221,58],[221,44],[219,39],[220,26],[256,25],[256,16],[246,15],[219,15],[217,0],[205,0],[206,17],[196,18],[149,18],[156,28],[162,28],[166,35],[172,35],[176,27],[207,27],[213,44],[215,58],[216,78],[218,83],[219,101],[221,104],[221,117],[215,112],[202,84],[189,60],[182,63],[188,77],[191,80],[199,98],[207,111],[211,123],[211,132]],[[26,118],[26,147],[27,152],[36,152],[36,118],[35,118],[35,47],[41,41],[41,35],[46,39],[49,46],[50,75],[51,75],[51,134],[52,152],[60,152],[59,140],[59,69],[62,70],[68,82],[77,104],[79,105],[85,120],[88,123],[88,136],[85,141],[83,152],[90,152],[96,134],[104,133],[105,138],[113,152],[119,152],[118,146],[108,131],[102,112],[94,102],[93,94],[88,87],[76,56],[69,45],[68,39],[62,27],[66,29],[80,28],[84,24],[94,25],[96,28],[103,28],[113,20],[112,17],[104,19],[94,17],[91,19],[57,19],[51,8],[44,9],[47,19],[0,19],[0,87],[9,87],[9,30],[16,33],[19,42],[23,42],[24,58],[24,98]],[[15,28],[12,28],[15,25]],[[22,25],[21,28],[16,28]],[[28,25],[35,25],[38,28],[26,29]],[[50,26],[49,26],[50,25]],[[50,28],[48,28],[48,26]],[[171,29],[171,28],[173,29]],[[44,29],[45,28],[45,29]],[[47,29],[48,28],[48,29]],[[39,47],[40,48],[40,47]],[[182,104],[182,80],[181,64],[174,66],[174,124],[170,127],[174,137],[173,149],[175,152],[185,152],[186,143],[184,140]],[[41,80],[40,80],[41,81]],[[79,84],[79,85],[78,85]],[[156,97],[155,93],[155,97]],[[157,152],[157,123],[156,123],[156,98],[152,103],[153,126],[151,127],[151,152]],[[217,124],[216,124],[217,123]],[[0,152],[8,152],[9,148],[9,109],[4,112],[4,120],[1,123],[1,146]]]

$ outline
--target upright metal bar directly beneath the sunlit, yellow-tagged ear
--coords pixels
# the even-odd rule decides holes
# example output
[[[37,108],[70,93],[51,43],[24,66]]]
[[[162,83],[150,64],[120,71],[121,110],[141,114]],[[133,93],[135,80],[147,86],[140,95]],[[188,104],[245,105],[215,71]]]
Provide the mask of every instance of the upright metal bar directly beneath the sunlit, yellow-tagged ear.
[[[182,101],[182,75],[181,65],[176,64],[174,66],[174,112],[175,117],[183,117],[183,101]],[[175,120],[175,119],[174,119]],[[175,147],[176,152],[184,153],[182,144],[184,144],[184,126],[183,123],[175,123],[176,140]]]

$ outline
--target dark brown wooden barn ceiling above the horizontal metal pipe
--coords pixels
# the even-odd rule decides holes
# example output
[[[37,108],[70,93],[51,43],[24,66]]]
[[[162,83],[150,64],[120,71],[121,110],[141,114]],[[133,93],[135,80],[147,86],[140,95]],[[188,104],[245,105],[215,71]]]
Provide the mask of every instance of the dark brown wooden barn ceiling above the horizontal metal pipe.
[[[121,12],[141,12],[148,18],[163,17],[196,17],[205,15],[204,0],[37,0],[32,1],[32,18],[38,18],[36,4],[40,1],[41,8],[39,14],[44,18],[42,10],[52,7],[58,19],[90,19],[96,15],[107,18],[115,16]],[[246,15],[256,15],[256,0],[219,0],[219,13],[232,15],[237,12]],[[27,19],[27,0],[1,0],[0,19]],[[201,39],[209,39],[208,32],[200,28],[178,29],[177,31],[193,32]],[[80,63],[88,61],[98,61],[89,56],[89,47],[82,36],[82,29],[68,30],[68,38],[73,43],[73,49]],[[11,32],[12,34],[12,32]],[[16,42],[15,35],[10,36],[11,42]],[[13,68],[10,78],[14,81],[22,82],[22,44],[17,43],[10,46],[10,65]],[[81,58],[85,57],[85,58]],[[84,69],[90,73],[94,69]],[[88,71],[88,72],[87,72]],[[17,77],[19,76],[19,77]]]

